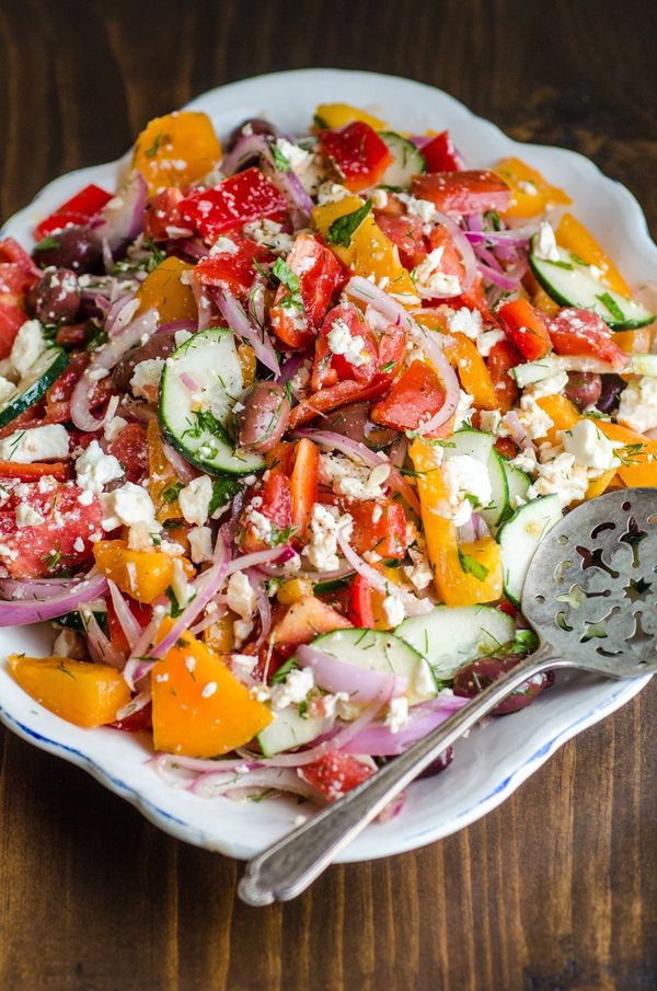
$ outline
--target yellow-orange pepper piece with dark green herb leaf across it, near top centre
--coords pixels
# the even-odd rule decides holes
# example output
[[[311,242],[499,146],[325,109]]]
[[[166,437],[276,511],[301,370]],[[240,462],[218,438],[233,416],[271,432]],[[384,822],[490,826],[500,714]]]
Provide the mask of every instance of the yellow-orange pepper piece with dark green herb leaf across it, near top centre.
[[[320,233],[326,238],[334,220],[353,214],[364,206],[360,196],[346,196],[337,203],[326,203],[315,207],[312,211],[312,222]],[[388,278],[385,286],[388,292],[394,292],[397,297],[407,296],[408,301],[417,300],[417,292],[411,276],[400,262],[395,245],[385,237],[371,212],[362,220],[351,234],[348,247],[342,244],[332,244],[331,247],[355,275],[367,278],[373,275],[377,281]]]

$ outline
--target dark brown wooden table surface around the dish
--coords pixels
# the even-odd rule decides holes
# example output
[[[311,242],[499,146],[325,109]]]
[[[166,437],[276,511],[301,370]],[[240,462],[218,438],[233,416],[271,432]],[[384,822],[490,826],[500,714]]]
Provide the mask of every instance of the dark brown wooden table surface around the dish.
[[[1,0],[0,214],[210,87],[333,66],[585,152],[655,232],[656,28],[648,0]],[[2,991],[657,988],[657,685],[483,821],[261,910],[238,864],[4,731],[0,772]]]

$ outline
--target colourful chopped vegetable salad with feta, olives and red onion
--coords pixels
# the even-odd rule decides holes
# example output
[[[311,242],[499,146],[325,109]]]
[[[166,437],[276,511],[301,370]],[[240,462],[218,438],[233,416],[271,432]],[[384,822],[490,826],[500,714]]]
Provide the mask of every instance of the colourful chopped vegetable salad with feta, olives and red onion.
[[[541,539],[657,485],[654,316],[569,206],[345,104],[180,112],[1,241],[0,625],[56,631],[22,689],[197,795],[322,803],[534,649]]]

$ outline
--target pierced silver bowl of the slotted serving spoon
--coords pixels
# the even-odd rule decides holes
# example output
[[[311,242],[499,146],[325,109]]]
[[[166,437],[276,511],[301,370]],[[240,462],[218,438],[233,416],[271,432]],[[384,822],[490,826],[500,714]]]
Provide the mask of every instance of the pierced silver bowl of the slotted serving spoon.
[[[614,678],[657,670],[657,488],[583,503],[544,538],[522,612],[543,642]]]

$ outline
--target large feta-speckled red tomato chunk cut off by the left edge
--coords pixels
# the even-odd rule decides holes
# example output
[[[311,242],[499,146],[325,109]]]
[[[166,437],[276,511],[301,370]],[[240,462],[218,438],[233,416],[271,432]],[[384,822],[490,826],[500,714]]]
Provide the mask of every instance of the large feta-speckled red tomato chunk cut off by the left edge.
[[[14,578],[45,578],[76,568],[91,557],[91,537],[101,532],[101,504],[96,496],[80,502],[83,489],[70,483],[15,482],[3,484],[0,509],[0,560]],[[45,491],[42,491],[45,489]],[[41,522],[19,527],[16,509],[27,506]]]

